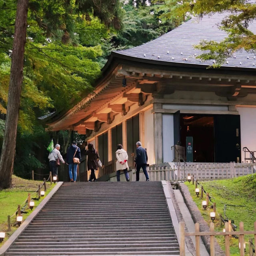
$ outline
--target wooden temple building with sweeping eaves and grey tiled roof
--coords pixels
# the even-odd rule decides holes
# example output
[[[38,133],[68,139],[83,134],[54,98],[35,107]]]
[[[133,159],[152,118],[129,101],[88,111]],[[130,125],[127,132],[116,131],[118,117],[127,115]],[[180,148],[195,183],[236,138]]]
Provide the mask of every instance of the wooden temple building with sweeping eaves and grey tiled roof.
[[[190,162],[242,162],[242,148],[256,150],[256,55],[238,51],[220,68],[202,62],[201,40],[220,41],[227,13],[192,18],[140,46],[113,51],[94,92],[49,123],[75,130],[98,149],[105,168],[122,144],[133,166],[136,142],[148,164],[174,160],[174,145],[186,148]],[[249,29],[256,32],[256,23]],[[191,145],[191,144],[189,144]]]

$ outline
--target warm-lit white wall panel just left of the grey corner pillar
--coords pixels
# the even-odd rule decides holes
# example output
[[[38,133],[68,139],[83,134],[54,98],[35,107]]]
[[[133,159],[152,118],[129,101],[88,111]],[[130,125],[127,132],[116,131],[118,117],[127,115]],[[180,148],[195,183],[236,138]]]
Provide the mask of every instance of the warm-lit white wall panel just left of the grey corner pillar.
[[[144,112],[144,148],[147,149],[148,164],[155,164],[154,153],[154,126],[152,108]]]

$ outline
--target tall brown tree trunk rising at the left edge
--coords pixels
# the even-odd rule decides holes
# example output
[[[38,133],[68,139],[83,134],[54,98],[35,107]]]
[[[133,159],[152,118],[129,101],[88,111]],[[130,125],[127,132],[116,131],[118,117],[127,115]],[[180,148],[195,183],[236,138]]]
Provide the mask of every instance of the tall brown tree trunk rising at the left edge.
[[[16,147],[20,94],[23,78],[28,1],[29,0],[18,0],[17,2],[7,115],[2,154],[0,159],[0,189],[10,188],[12,185],[12,172]]]

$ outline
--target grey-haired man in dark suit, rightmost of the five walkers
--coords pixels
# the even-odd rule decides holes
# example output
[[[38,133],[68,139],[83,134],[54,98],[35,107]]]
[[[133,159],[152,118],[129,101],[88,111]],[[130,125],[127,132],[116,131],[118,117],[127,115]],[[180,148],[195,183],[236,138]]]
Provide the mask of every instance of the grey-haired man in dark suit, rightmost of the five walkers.
[[[148,155],[147,152],[145,150],[145,148],[142,148],[141,146],[141,142],[138,141],[136,143],[136,181],[140,180],[140,168],[142,168],[145,176],[146,176],[146,181],[149,181],[149,177],[148,177],[148,172],[146,170],[147,167],[147,162],[148,162]]]

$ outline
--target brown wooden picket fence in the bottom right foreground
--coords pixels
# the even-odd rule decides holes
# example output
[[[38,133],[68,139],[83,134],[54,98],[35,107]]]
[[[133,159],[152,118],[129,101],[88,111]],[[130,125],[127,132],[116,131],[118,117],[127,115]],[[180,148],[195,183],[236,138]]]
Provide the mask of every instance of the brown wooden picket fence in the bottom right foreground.
[[[229,223],[225,222],[225,230],[229,230]],[[246,250],[246,243],[244,241],[244,235],[254,235],[254,244],[253,239],[249,239],[249,256],[254,255],[254,245],[256,245],[256,222],[254,222],[254,231],[244,231],[244,223],[240,222],[239,231],[232,232],[216,232],[214,231],[214,223],[210,223],[209,232],[200,232],[199,223],[195,224],[195,232],[185,233],[185,224],[180,222],[180,256],[185,256],[185,236],[195,236],[196,237],[196,256],[200,256],[200,236],[210,236],[210,256],[215,255],[214,248],[214,237],[215,236],[225,236],[225,256],[230,256],[230,236],[236,235],[239,236],[238,242],[240,243],[240,256],[244,256]]]

